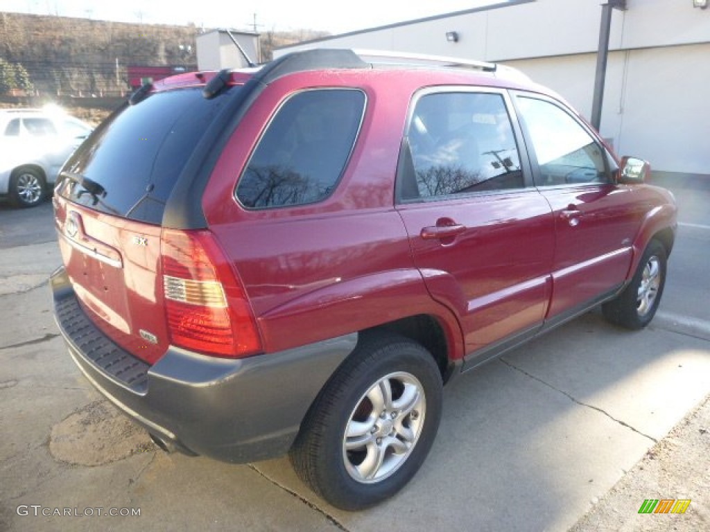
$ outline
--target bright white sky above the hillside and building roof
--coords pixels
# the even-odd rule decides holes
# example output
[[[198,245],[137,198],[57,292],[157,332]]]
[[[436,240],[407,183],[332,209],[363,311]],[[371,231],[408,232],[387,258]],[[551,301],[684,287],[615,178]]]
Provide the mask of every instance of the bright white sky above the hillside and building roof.
[[[195,23],[206,28],[330,33],[451,13],[506,0],[0,0],[0,12],[59,15],[151,24]]]

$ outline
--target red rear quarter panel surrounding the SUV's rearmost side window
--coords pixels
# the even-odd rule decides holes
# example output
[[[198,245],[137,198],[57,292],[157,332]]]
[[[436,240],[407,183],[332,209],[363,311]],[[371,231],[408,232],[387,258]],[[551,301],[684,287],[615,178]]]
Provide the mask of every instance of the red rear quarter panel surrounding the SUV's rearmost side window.
[[[459,323],[427,293],[394,209],[393,177],[408,97],[393,99],[400,102],[394,105],[372,87],[371,76],[362,74],[335,72],[317,83],[310,79],[316,88],[352,78],[348,87],[361,89],[367,97],[359,141],[339,187],[318,204],[290,209],[249,211],[234,199],[236,179],[262,131],[249,125],[268,123],[283,100],[302,87],[306,75],[278,80],[263,92],[245,117],[246,127],[226,146],[203,196],[210,228],[239,267],[265,349],[376,326],[381,318],[367,310],[376,304],[377,314],[391,321],[435,316],[448,331],[452,357],[461,358]],[[415,87],[400,84],[399,90],[413,92]],[[231,199],[224,201],[228,196]],[[324,278],[324,272],[332,275]],[[312,327],[314,322],[322,327]]]

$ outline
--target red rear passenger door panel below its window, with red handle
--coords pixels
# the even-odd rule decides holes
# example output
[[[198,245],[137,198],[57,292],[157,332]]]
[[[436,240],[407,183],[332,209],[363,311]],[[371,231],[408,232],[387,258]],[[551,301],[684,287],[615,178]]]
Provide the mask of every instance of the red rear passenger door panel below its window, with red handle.
[[[542,326],[550,299],[555,228],[535,189],[400,206],[414,261],[432,297],[454,309],[466,351]],[[422,228],[446,215],[466,226],[450,240]]]

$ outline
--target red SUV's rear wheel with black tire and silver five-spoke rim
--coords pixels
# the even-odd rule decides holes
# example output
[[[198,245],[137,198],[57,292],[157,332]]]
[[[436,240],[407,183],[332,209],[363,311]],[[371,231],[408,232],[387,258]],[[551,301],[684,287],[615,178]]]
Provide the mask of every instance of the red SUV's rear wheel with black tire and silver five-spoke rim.
[[[379,399],[383,409],[375,406]],[[441,409],[441,372],[425,348],[400,336],[361,335],[311,406],[291,448],[291,462],[333,506],[350,511],[373,506],[419,470],[436,437]]]

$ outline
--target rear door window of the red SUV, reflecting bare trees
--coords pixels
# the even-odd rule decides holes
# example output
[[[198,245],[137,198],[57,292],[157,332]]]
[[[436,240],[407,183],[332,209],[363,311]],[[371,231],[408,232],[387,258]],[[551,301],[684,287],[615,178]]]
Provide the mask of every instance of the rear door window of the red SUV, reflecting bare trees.
[[[518,148],[501,94],[422,96],[412,113],[408,144],[413,169],[400,172],[405,201],[523,187]]]

